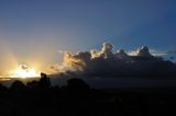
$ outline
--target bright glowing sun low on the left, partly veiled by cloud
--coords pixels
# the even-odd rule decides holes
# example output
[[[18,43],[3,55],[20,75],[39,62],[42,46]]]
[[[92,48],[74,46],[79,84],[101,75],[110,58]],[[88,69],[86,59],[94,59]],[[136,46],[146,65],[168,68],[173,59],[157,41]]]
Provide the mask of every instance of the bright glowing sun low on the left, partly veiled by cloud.
[[[11,78],[36,78],[40,72],[31,68],[29,65],[20,65],[18,69],[11,71]]]

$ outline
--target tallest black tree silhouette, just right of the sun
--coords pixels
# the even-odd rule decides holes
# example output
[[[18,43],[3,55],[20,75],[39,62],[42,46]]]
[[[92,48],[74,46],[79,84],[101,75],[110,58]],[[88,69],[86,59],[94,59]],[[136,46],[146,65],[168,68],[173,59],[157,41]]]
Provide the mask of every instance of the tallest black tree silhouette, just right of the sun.
[[[38,81],[40,88],[50,88],[51,86],[51,80],[47,78],[45,73],[41,73],[41,79]]]

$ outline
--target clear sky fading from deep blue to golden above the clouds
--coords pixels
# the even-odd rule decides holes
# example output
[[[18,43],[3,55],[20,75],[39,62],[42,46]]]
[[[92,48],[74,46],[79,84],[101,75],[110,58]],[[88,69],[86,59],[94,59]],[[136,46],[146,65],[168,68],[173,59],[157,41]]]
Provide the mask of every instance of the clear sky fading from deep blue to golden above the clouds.
[[[42,68],[59,51],[100,49],[110,42],[128,51],[146,45],[176,54],[175,0],[0,0],[0,69]]]

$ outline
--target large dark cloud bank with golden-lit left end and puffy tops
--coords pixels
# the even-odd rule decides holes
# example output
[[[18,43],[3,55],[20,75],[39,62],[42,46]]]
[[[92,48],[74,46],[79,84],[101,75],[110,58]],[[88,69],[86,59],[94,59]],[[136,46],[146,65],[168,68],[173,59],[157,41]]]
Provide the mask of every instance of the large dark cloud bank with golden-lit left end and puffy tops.
[[[123,49],[113,53],[111,43],[103,43],[101,50],[64,53],[64,60],[58,67],[62,72],[79,73],[88,77],[129,77],[129,76],[168,76],[176,74],[176,66],[153,56],[146,46],[134,51]]]

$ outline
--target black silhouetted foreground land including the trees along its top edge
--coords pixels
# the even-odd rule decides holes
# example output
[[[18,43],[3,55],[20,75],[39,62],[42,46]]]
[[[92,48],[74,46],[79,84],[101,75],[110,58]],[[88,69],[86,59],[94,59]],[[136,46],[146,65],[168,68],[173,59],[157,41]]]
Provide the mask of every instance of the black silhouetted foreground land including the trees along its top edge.
[[[45,76],[0,86],[0,116],[176,115],[176,88],[90,89],[80,79],[51,86]]]

